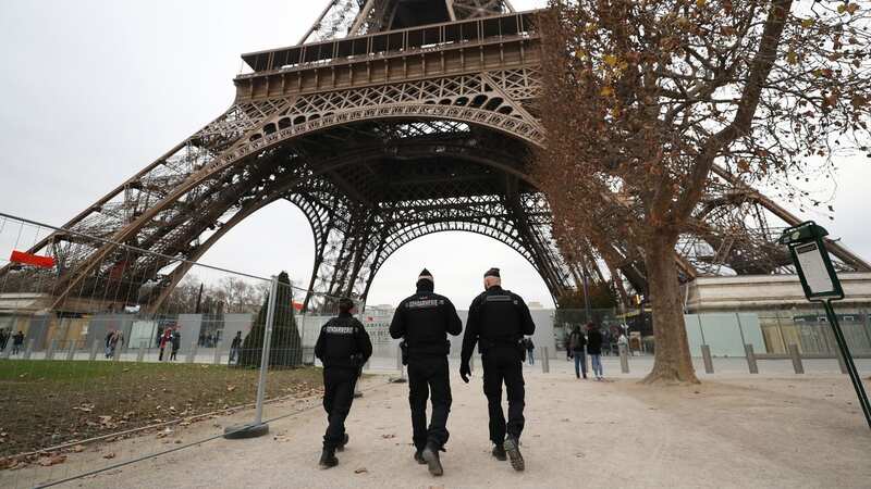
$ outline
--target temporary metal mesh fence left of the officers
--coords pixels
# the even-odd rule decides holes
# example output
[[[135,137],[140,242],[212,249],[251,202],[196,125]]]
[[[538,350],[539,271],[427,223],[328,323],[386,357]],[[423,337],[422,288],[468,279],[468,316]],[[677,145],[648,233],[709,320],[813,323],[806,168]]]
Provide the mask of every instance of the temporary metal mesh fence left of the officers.
[[[197,421],[317,405],[314,346],[338,299],[0,214],[0,487],[160,453]],[[102,466],[77,462],[94,450]]]

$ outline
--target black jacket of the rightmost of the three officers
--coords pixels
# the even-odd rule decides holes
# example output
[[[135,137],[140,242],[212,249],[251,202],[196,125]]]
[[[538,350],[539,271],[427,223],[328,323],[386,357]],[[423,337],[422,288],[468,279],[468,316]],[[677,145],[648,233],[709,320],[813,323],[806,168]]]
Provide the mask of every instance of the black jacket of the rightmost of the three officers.
[[[469,306],[466,333],[463,335],[463,362],[468,362],[480,341],[483,353],[492,346],[517,344],[524,336],[536,333],[536,323],[524,299],[502,287],[490,287]]]

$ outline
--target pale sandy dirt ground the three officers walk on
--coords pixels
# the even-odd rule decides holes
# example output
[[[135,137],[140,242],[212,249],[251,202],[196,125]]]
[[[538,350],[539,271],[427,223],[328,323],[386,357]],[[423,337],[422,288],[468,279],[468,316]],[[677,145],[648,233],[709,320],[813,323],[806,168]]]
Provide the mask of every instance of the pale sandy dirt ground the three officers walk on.
[[[480,377],[468,386],[452,381],[452,435],[442,455],[445,476],[438,479],[412,460],[407,386],[376,376],[354,404],[351,443],[336,468],[317,466],[326,419],[312,397],[273,406],[273,413],[296,414],[273,422],[268,437],[217,439],[62,487],[871,487],[871,430],[845,376],[728,377],[654,389],[636,379],[582,381],[530,369],[525,473],[490,456]],[[116,460],[198,440],[235,421],[128,440]],[[0,486],[32,487],[105,466],[111,462],[106,450],[72,454],[54,467],[0,473]]]

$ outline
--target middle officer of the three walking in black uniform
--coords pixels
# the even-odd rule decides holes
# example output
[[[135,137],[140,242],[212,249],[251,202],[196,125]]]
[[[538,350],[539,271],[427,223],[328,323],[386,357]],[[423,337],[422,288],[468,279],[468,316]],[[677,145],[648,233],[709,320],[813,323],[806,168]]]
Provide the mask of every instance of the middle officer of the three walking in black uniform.
[[[447,413],[451,411],[451,381],[447,334],[459,335],[463,323],[446,297],[433,293],[434,280],[426,268],[417,277],[417,293],[396,308],[390,336],[404,338],[408,362],[408,403],[415,460],[427,464],[432,475],[444,473],[439,451],[447,442]],[[432,393],[432,417],[427,429],[427,398]]]

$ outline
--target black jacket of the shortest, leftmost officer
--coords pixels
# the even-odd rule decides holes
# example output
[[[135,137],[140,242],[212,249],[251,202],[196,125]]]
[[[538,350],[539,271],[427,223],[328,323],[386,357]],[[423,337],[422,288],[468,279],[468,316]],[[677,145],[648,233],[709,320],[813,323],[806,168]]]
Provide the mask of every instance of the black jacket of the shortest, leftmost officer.
[[[363,323],[351,314],[340,314],[320,328],[315,356],[324,367],[361,366],[372,355],[372,342]]]

